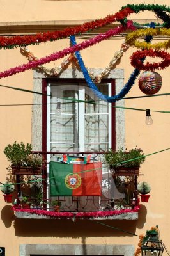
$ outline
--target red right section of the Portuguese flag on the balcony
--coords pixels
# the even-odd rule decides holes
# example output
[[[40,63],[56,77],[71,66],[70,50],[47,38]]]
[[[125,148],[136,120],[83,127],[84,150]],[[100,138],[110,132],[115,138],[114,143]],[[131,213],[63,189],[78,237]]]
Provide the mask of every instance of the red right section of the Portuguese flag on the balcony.
[[[81,186],[73,189],[72,196],[102,195],[102,163],[73,164],[73,173],[81,176]]]

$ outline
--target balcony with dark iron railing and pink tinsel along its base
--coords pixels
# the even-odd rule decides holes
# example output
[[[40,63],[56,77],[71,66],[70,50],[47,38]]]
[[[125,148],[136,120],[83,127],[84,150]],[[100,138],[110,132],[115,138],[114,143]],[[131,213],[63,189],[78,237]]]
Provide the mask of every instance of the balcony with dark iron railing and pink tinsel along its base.
[[[93,220],[137,220],[139,211],[139,199],[137,195],[137,176],[139,175],[139,170],[131,171],[121,171],[118,173],[112,173],[108,170],[103,162],[103,153],[91,154],[91,152],[34,152],[37,154],[42,154],[45,159],[50,156],[50,161],[47,161],[45,166],[43,166],[42,174],[37,173],[37,175],[26,175],[26,173],[21,173],[13,175],[15,181],[17,182],[16,191],[17,204],[13,205],[13,210],[15,211],[16,218],[25,219],[71,219],[72,221],[78,219],[93,219]],[[52,195],[51,190],[51,173],[49,171],[50,162],[55,162],[56,160],[61,161],[61,156],[66,154],[66,156],[77,156],[86,157],[91,154],[91,163],[95,164],[101,163],[102,168],[100,169],[101,177],[98,178],[98,186],[102,191],[101,195],[88,195],[86,192],[84,195]],[[54,161],[54,159],[56,159]],[[62,163],[63,166],[68,165]],[[76,164],[76,166],[82,166],[83,164]],[[88,166],[88,164],[84,164]],[[62,166],[62,167],[63,167]],[[92,169],[91,169],[92,170]],[[88,172],[91,170],[86,170],[83,172]],[[98,173],[98,171],[97,171]],[[91,178],[92,179],[92,178]],[[39,188],[39,192],[42,195],[42,200],[40,200],[40,205],[34,205],[33,202],[36,201],[36,196],[33,195],[33,187]],[[91,187],[89,187],[91,188]],[[95,187],[98,189],[99,187]],[[37,189],[37,188],[36,188]],[[73,189],[72,189],[73,190]],[[37,192],[37,191],[36,191]],[[86,195],[87,194],[87,195]],[[17,196],[15,195],[15,196]],[[21,195],[21,197],[20,197]],[[23,198],[27,198],[27,204],[23,204]],[[21,200],[20,200],[21,199]],[[59,211],[54,210],[54,205],[52,202],[54,200],[59,200],[61,202],[61,207]],[[15,200],[16,201],[16,200]],[[30,206],[31,205],[31,206]]]

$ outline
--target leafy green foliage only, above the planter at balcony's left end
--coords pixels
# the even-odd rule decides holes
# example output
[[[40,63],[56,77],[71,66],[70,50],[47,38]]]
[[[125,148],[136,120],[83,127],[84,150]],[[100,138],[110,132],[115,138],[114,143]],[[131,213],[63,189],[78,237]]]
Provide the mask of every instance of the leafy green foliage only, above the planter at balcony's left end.
[[[31,150],[31,144],[27,143],[24,145],[23,142],[17,143],[15,141],[13,145],[8,144],[8,146],[4,148],[4,154],[8,161],[10,161],[10,167],[42,167],[44,162],[43,157],[40,154],[31,154]]]

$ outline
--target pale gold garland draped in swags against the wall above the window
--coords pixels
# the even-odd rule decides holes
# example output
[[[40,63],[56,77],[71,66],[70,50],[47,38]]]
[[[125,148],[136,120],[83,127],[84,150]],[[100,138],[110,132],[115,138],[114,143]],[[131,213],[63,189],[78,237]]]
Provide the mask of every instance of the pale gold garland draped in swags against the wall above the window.
[[[115,52],[114,57],[109,62],[109,65],[105,67],[104,70],[102,70],[102,72],[100,72],[100,74],[98,74],[97,76],[95,76],[95,74],[91,70],[89,70],[89,68],[87,68],[91,79],[95,83],[100,83],[102,81],[102,78],[104,78],[111,71],[112,67],[116,65],[116,63],[121,59],[121,57],[123,56],[123,53],[127,51],[128,47],[129,46],[125,43],[121,44],[120,50]],[[33,55],[33,53],[29,51],[28,47],[20,47],[20,51],[22,52],[22,54],[26,56],[26,58],[29,61],[38,60],[38,58],[36,58]],[[43,65],[40,65],[36,68],[36,70],[40,70],[40,72],[44,72],[49,76],[58,76],[61,73],[61,71],[64,68],[66,68],[66,65],[68,65],[70,61],[75,61],[75,65],[77,66],[77,68],[79,68],[79,65],[77,63],[77,58],[75,58],[73,54],[70,54],[70,56],[66,57],[61,63],[61,65],[59,65],[56,68],[46,68]]]

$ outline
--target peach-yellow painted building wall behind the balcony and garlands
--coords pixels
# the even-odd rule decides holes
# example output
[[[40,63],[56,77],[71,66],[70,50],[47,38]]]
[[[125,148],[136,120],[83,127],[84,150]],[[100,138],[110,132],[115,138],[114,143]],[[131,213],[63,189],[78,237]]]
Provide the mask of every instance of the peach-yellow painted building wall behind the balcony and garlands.
[[[141,0],[130,1],[130,3],[127,0],[120,2],[114,0],[15,0],[10,1],[10,3],[0,0],[0,33],[1,36],[15,36],[35,35],[39,31],[61,30],[112,15],[127,4],[142,3]],[[165,0],[163,3],[161,0],[148,0],[145,4],[164,4],[168,6],[169,1]],[[132,14],[128,18],[140,24],[161,22],[151,11]],[[105,33],[107,29],[115,28],[118,25],[119,22],[116,22],[114,25],[96,29],[93,33],[82,33],[82,35],[76,36],[77,43],[91,39],[99,33]],[[115,52],[121,48],[125,35],[126,32],[121,33],[121,35],[113,36],[100,42],[100,44],[82,50],[81,55],[86,67],[93,68],[95,72],[107,67]],[[168,37],[155,36],[153,38],[153,42],[164,40],[168,40]],[[69,38],[28,45],[27,51],[33,53],[37,58],[42,58],[53,52],[62,51],[67,47],[70,47]],[[116,88],[116,93],[123,88],[122,83],[127,83],[130,74],[134,70],[134,67],[130,65],[130,56],[135,51],[137,51],[136,48],[129,47],[111,72],[109,81],[117,79],[118,88]],[[1,49],[0,60],[1,72],[28,62],[20,47]],[[148,60],[153,61],[151,58],[148,58]],[[45,64],[45,67],[50,69],[59,67],[62,61],[63,58],[51,61]],[[154,61],[160,61],[160,58],[155,58]],[[162,76],[162,88],[159,93],[169,93],[169,67],[164,70],[155,70],[155,72]],[[86,83],[81,71],[77,71],[76,66],[70,64],[59,78],[65,81],[65,79],[71,80],[77,77],[83,83]],[[1,85],[42,92],[41,83],[43,79],[47,78],[49,79],[48,83],[56,83],[54,79],[57,77],[46,76],[35,68],[34,70],[29,69],[13,76],[1,78]],[[53,80],[51,81],[51,79]],[[136,79],[127,97],[143,95],[144,93],[139,90],[138,79]],[[42,151],[42,140],[40,139],[43,126],[40,111],[42,107],[32,106],[32,104],[41,102],[42,95],[37,96],[33,93],[1,87],[0,99],[0,182],[4,182],[7,174],[6,168],[9,164],[3,152],[6,145],[14,141],[23,141],[24,143],[32,143],[34,150]],[[5,248],[5,255],[131,256],[134,255],[139,241],[139,237],[135,234],[145,234],[146,230],[150,230],[155,225],[160,228],[162,241],[164,241],[167,248],[170,248],[168,239],[170,228],[168,150],[170,145],[170,121],[168,113],[157,112],[169,111],[169,103],[169,95],[126,99],[116,103],[117,106],[125,108],[143,109],[143,111],[123,109],[117,112],[116,149],[123,147],[130,150],[137,147],[141,148],[146,155],[167,149],[146,157],[144,164],[141,166],[138,181],[146,180],[151,185],[151,197],[147,204],[141,202],[137,220],[87,220],[85,218],[73,222],[69,219],[16,218],[11,205],[6,204],[1,195],[0,247]],[[153,124],[150,126],[145,123],[145,109],[151,110]]]

